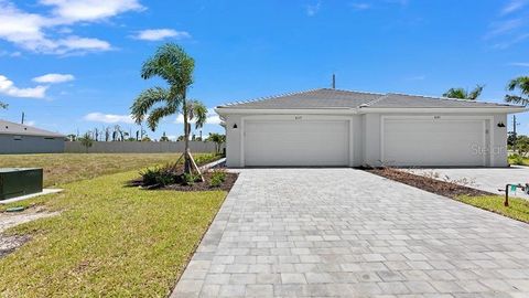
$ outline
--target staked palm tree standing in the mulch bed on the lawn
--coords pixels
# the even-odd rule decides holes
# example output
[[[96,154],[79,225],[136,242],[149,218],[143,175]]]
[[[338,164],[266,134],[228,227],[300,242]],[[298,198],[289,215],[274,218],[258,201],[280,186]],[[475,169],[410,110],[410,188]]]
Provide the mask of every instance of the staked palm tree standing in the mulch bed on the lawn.
[[[141,77],[160,77],[169,87],[151,87],[143,91],[131,107],[132,118],[141,124],[147,117],[149,128],[154,131],[158,123],[166,116],[182,113],[184,118],[184,173],[197,172],[190,152],[191,121],[199,128],[206,123],[207,108],[198,100],[187,99],[187,88],[193,84],[195,61],[181,46],[166,43],[148,58],[141,68]]]

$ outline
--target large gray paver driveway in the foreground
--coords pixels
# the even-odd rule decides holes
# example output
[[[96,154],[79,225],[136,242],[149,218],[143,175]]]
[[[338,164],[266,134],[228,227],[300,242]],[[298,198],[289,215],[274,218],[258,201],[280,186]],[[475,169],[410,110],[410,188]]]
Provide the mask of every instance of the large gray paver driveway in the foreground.
[[[173,297],[529,297],[529,225],[353,169],[242,170]]]

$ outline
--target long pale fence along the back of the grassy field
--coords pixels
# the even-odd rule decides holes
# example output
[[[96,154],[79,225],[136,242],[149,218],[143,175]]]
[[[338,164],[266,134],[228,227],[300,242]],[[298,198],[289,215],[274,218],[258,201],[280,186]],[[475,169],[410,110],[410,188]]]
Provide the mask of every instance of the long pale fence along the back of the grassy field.
[[[215,142],[190,141],[192,152],[215,152]],[[95,141],[84,147],[80,141],[66,141],[65,153],[164,153],[183,152],[183,141]]]

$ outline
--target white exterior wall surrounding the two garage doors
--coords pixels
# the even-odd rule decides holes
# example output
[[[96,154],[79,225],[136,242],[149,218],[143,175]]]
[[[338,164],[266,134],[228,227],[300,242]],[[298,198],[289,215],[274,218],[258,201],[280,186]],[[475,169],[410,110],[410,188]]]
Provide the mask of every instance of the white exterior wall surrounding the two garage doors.
[[[244,167],[244,158],[241,151],[241,136],[244,134],[245,119],[256,119],[266,117],[267,119],[285,119],[288,117],[309,117],[309,118],[347,118],[352,123],[350,127],[350,164],[359,166],[381,166],[381,125],[382,116],[456,116],[456,117],[483,117],[486,119],[486,128],[488,134],[485,136],[487,148],[489,151],[487,158],[487,167],[507,167],[507,127],[498,127],[499,123],[507,125],[506,114],[363,114],[363,115],[226,115],[226,163],[228,167]],[[234,129],[234,125],[237,128]]]

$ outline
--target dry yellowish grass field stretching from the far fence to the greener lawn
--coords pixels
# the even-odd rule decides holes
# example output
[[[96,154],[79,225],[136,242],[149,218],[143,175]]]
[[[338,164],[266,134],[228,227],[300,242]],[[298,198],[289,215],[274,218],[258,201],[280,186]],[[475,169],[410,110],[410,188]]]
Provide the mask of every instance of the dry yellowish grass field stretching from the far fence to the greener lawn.
[[[176,161],[179,157],[180,153],[0,155],[0,168],[43,168],[44,187],[53,187]]]

